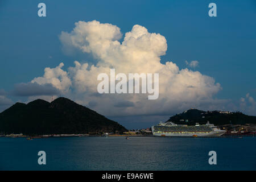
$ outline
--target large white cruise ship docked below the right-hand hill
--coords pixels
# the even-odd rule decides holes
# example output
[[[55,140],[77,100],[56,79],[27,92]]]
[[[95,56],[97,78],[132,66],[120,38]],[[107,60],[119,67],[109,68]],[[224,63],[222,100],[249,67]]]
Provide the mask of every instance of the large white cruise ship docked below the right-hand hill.
[[[160,122],[151,128],[155,137],[216,137],[226,132],[210,124],[209,121],[206,125],[196,123],[195,126],[176,125],[173,122]]]

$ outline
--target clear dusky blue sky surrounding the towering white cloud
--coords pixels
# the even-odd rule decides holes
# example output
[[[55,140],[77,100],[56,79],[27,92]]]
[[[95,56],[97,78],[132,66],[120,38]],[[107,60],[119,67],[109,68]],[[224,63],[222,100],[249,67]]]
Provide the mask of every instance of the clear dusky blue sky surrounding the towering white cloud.
[[[38,3],[47,6],[39,18]],[[210,2],[217,17],[208,16]],[[61,51],[59,35],[74,23],[98,20],[115,24],[122,32],[140,24],[167,39],[162,62],[199,61],[197,71],[222,86],[217,98],[256,97],[256,2],[251,1],[5,1],[0,2],[0,89],[42,76],[44,68],[64,68],[90,55],[68,56]],[[24,97],[9,96],[13,101]]]

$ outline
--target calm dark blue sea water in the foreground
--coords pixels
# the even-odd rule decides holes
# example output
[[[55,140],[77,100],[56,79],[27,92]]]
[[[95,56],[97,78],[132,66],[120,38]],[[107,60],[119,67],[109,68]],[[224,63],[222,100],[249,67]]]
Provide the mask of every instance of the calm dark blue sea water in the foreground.
[[[217,165],[208,163],[212,150]],[[255,170],[255,154],[256,137],[0,138],[1,170]]]

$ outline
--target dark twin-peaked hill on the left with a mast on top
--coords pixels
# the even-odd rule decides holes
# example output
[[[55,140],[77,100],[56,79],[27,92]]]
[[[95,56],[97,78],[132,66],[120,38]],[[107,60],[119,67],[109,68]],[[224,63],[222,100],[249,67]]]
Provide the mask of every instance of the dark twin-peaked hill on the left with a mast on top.
[[[67,98],[49,103],[35,100],[16,103],[0,113],[0,132],[5,134],[86,134],[127,131],[101,114]]]

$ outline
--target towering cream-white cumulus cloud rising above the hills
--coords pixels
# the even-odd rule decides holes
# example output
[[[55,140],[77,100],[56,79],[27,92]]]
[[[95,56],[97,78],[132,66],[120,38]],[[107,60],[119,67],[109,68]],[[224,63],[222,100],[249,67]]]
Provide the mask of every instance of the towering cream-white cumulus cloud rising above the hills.
[[[75,67],[68,71],[60,63],[56,68],[46,68],[44,76],[32,82],[52,84],[64,95],[106,115],[170,114],[170,110],[175,112],[195,105],[214,109],[220,102],[212,99],[221,89],[212,77],[179,69],[172,61],[160,63],[160,56],[167,51],[164,36],[150,33],[137,24],[119,42],[121,38],[120,28],[113,24],[96,20],[77,22],[71,32],[61,32],[63,49],[92,53],[97,63],[89,66],[75,61]],[[110,68],[115,68],[116,73],[159,73],[158,100],[147,100],[145,94],[98,94],[97,76],[109,74]]]

